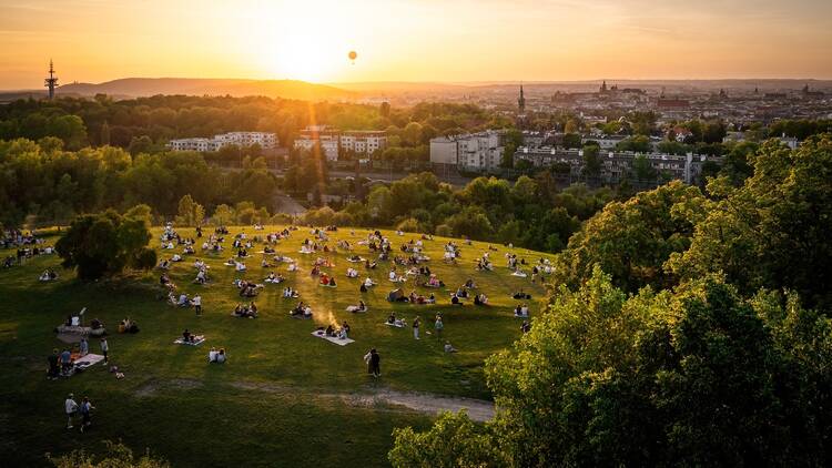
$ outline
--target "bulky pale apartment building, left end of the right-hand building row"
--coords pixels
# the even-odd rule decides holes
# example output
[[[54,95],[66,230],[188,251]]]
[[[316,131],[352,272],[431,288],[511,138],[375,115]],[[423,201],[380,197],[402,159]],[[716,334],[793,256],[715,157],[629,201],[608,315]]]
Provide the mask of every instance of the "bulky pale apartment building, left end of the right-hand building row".
[[[454,164],[464,171],[486,172],[503,162],[505,132],[488,130],[430,140],[430,162]]]

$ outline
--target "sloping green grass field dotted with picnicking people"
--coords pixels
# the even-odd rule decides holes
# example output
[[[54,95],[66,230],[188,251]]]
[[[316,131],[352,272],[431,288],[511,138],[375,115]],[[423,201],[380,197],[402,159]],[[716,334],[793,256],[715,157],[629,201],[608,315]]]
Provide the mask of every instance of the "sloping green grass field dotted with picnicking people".
[[[232,317],[234,305],[242,301],[232,284],[234,278],[262,283],[270,271],[261,268],[258,254],[246,261],[246,273],[224,266],[232,256],[233,234],[245,231],[252,237],[281,228],[231,228],[225,252],[203,254],[197,245],[196,255],[185,255],[184,262],[174,264],[169,275],[179,288],[189,296],[202,295],[202,317],[158,299],[159,269],[87,284],[61,269],[55,255],[0,269],[0,465],[39,466],[45,462],[47,451],[62,454],[80,447],[99,451],[101,440],[122,439],[136,451],[150,447],[174,466],[385,466],[393,428],[424,428],[433,416],[361,397],[396,390],[488,399],[484,359],[520,336],[521,321],[513,316],[517,301],[510,294],[520,288],[531,293],[532,316],[545,294],[539,282],[531,284],[529,278],[509,274],[504,258],[507,247],[495,245],[497,251],[490,253],[494,272],[477,272],[475,260],[488,252],[488,244],[458,242],[463,258],[458,265],[447,265],[442,254],[448,240],[437,237],[425,241],[425,254],[432,258],[427,265],[447,288],[416,288],[425,295],[434,292],[437,305],[390,304],[386,294],[395,285],[386,279],[389,263],[379,262],[378,268],[367,272],[361,264],[346,262],[347,253],[341,250],[302,255],[297,252],[301,242],[312,235],[301,228],[276,246],[277,253],[298,262],[300,272],[287,273],[285,264],[272,268],[288,281],[267,284],[261,291],[255,299],[260,317]],[[177,231],[183,237],[195,237],[194,230]],[[153,231],[156,247],[160,233]],[[418,238],[384,234],[392,240],[393,254],[399,253],[402,243]],[[355,254],[375,258],[366,246],[356,245],[366,235],[363,230],[341,230],[329,233],[328,245],[347,240]],[[250,253],[261,250],[255,245]],[[160,258],[173,252],[181,253],[181,248],[160,251]],[[519,248],[510,252],[529,263],[541,257]],[[9,253],[0,251],[0,256]],[[310,275],[317,256],[335,263],[324,271],[335,275],[337,288],[319,287],[317,278]],[[196,258],[211,266],[207,285],[192,283]],[[38,282],[38,275],[50,266],[55,267],[59,279]],[[369,275],[378,286],[361,294],[359,279],[346,278],[349,266],[358,269],[359,278]],[[467,278],[488,295],[489,306],[476,307],[470,299],[461,307],[450,305],[450,292]],[[281,297],[286,285],[298,289],[301,299],[312,305],[315,321],[288,316],[297,299]],[[404,286],[406,293],[412,285]],[[361,298],[369,312],[345,312]],[[82,307],[88,308],[88,321],[98,317],[106,325],[111,364],[125,373],[124,379],[115,379],[101,365],[71,378],[45,379],[47,356],[53,347],[64,346],[53,328]],[[390,311],[408,326],[384,325]],[[444,337],[459,350],[456,354],[444,353],[444,343],[425,334],[433,330],[437,312],[444,315]],[[423,321],[423,339],[418,342],[409,327],[416,315]],[[126,316],[138,322],[140,333],[116,333],[119,321]],[[331,319],[346,319],[356,343],[342,347],[311,336],[316,326]],[[206,335],[206,343],[173,345],[184,328]],[[225,347],[229,363],[206,364],[211,346]],[[371,347],[382,355],[383,376],[378,379],[366,374],[362,359]],[[90,349],[99,352],[97,339],[91,340]],[[64,428],[63,399],[70,391],[78,398],[89,396],[98,408],[88,434]]]

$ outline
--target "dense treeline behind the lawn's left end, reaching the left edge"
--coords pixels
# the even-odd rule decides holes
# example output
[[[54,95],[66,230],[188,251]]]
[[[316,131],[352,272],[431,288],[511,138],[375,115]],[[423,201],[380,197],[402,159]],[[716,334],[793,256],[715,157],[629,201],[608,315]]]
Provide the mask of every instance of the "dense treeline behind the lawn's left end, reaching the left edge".
[[[184,195],[213,211],[221,204],[272,206],[276,177],[262,160],[244,160],[240,171],[209,165],[197,153],[140,154],[119,147],[64,151],[47,136],[0,141],[0,223],[68,222],[106,208],[149,205],[156,215],[177,213]]]

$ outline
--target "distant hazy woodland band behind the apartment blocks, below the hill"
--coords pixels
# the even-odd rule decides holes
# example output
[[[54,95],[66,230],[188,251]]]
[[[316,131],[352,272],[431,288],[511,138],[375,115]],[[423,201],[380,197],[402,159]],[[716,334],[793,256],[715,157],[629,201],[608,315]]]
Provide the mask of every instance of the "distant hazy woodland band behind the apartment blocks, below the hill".
[[[473,104],[422,103],[392,108],[387,103],[311,103],[262,96],[155,95],[113,100],[60,98],[19,100],[0,106],[0,140],[55,136],[69,150],[87,145],[133,146],[132,154],[161,152],[171,139],[213,136],[232,131],[276,133],[292,145],[312,124],[339,130],[386,130],[389,149],[379,157],[424,160],[427,142],[439,134],[511,126],[511,120]]]

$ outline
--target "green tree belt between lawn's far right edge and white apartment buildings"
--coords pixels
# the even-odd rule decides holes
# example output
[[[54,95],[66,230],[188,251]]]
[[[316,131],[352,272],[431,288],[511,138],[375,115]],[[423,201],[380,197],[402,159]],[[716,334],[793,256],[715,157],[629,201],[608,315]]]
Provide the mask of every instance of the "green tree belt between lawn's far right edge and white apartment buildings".
[[[341,211],[326,206],[307,213],[313,224],[389,226],[404,231],[466,236],[559,252],[582,221],[617,192],[576,184],[559,190],[551,173],[531,179],[478,177],[455,190],[432,173],[412,174],[369,190],[364,202]]]

